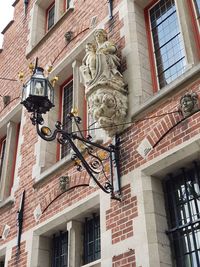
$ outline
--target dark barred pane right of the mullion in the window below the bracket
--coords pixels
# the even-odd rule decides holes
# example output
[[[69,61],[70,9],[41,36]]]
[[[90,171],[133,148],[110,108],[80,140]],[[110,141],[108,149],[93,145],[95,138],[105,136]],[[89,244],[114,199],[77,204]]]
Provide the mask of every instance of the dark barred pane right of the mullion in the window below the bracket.
[[[85,219],[84,228],[84,264],[100,259],[101,237],[100,217],[93,215],[93,218]]]

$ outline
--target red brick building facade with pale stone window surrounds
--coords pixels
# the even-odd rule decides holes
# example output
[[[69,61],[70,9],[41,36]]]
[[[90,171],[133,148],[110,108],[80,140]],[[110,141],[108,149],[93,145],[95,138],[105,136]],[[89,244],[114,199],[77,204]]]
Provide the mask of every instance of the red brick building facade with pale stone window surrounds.
[[[13,6],[0,52],[0,267],[200,266],[199,0],[17,0]],[[86,129],[79,67],[100,28],[117,45],[128,90],[119,134],[121,201],[75,171],[69,151],[37,135],[16,81],[20,71],[25,81],[30,77],[36,57],[43,68],[53,63],[50,78],[59,80],[45,122],[62,120],[71,90],[66,101]],[[196,109],[184,115],[180,100],[187,93],[195,95]],[[92,134],[111,142],[98,127]],[[62,176],[88,186],[60,194]]]

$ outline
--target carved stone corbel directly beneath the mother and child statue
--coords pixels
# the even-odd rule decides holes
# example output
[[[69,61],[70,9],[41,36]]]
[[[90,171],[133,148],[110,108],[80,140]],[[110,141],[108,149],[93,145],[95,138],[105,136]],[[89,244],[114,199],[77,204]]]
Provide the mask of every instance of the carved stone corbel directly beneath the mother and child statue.
[[[126,112],[127,96],[121,92],[98,89],[89,97],[89,113],[110,137],[123,129]]]

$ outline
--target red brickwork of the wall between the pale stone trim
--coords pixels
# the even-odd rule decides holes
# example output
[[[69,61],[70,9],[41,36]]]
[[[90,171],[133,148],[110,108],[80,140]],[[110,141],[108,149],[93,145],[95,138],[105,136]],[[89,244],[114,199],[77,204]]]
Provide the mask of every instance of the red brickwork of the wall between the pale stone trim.
[[[29,11],[33,4],[33,0],[30,1]],[[121,1],[114,1],[114,6]],[[98,6],[98,8],[97,8]],[[52,30],[52,34],[45,39],[37,49],[34,49],[29,54],[28,60],[25,58],[25,50],[27,47],[27,34],[28,23],[30,14],[27,18],[24,16],[23,1],[19,1],[15,7],[15,21],[11,27],[5,33],[5,41],[3,51],[0,53],[0,77],[16,78],[17,73],[20,70],[24,70],[26,77],[29,77],[28,62],[34,61],[36,56],[39,57],[39,65],[46,66],[50,61],[54,61],[57,57],[55,64],[66,56],[70,51],[78,45],[83,37],[89,33],[91,29],[82,32],[90,25],[91,18],[98,15],[98,22],[108,16],[108,1],[103,0],[87,0],[75,1],[75,10],[69,16],[63,20],[56,28]],[[106,30],[115,43],[117,43],[119,50],[125,46],[124,37],[120,36],[120,29],[123,27],[123,21],[119,20],[119,14],[115,14],[112,22],[108,22],[105,25]],[[74,32],[76,38],[66,46],[64,34],[66,31],[71,30]],[[65,47],[66,46],[66,47]],[[65,47],[65,49],[63,49]],[[120,51],[119,51],[120,54]],[[125,63],[124,67],[125,69]],[[166,135],[160,143],[149,154],[148,158],[144,160],[136,151],[136,148],[141,141],[151,131],[162,131],[158,125],[162,125],[161,121],[166,123],[168,127],[167,118],[168,115],[160,116],[167,112],[177,110],[180,97],[186,91],[196,91],[200,95],[200,82],[196,82],[191,86],[181,88],[180,91],[169,96],[168,99],[163,101],[159,105],[155,105],[150,112],[146,112],[145,117],[153,117],[151,119],[141,120],[133,123],[127,128],[121,135],[121,149],[120,149],[120,162],[121,162],[121,174],[125,175],[135,168],[141,166],[145,162],[161,155],[169,149],[175,147],[178,144],[183,143],[194,135],[200,132],[200,120],[199,113],[186,119],[182,124],[178,125],[172,131]],[[19,102],[19,95],[21,93],[21,85],[17,82],[1,81],[0,95],[11,95],[13,100],[5,109],[3,109],[3,103],[0,101],[0,115],[5,116],[12,107]],[[15,99],[17,98],[17,99]],[[15,99],[15,100],[14,100]],[[26,113],[26,124],[23,128],[24,143],[20,148],[22,155],[22,164],[18,171],[19,175],[19,189],[15,194],[16,202],[13,206],[7,206],[4,209],[0,209],[0,222],[1,224],[8,224],[11,229],[6,241],[0,239],[0,245],[5,242],[16,238],[16,214],[19,206],[19,199],[23,190],[26,190],[25,209],[24,209],[24,225],[23,231],[27,231],[36,225],[33,217],[33,211],[43,201],[43,196],[48,197],[48,192],[51,188],[58,185],[58,178],[62,175],[70,174],[73,172],[71,166],[65,166],[62,169],[57,170],[53,175],[48,177],[40,185],[34,186],[34,177],[32,177],[32,166],[35,164],[34,146],[37,142],[36,131],[29,120],[29,114]],[[158,117],[159,116],[159,117]],[[163,126],[162,126],[163,127]],[[155,130],[157,129],[157,130]],[[154,140],[155,141],[155,140]],[[77,176],[79,177],[79,176]],[[84,176],[85,178],[85,176]],[[55,213],[58,213],[65,209],[67,206],[72,205],[75,201],[85,198],[97,189],[94,188],[78,188],[72,192],[62,194],[56,201],[49,206],[47,211],[41,217],[41,222],[50,218]],[[133,219],[138,216],[137,211],[137,199],[131,194],[130,185],[126,185],[122,188],[123,201],[117,202],[112,200],[111,208],[106,212],[106,229],[111,231],[112,243],[116,244],[120,241],[134,235],[134,221]],[[22,253],[20,255],[19,266],[26,266],[26,252],[25,244],[21,245]],[[14,255],[16,248],[13,249],[13,257],[9,262],[9,267],[14,266]],[[125,252],[124,254],[113,257],[113,267],[134,267],[135,256],[134,251]]]

